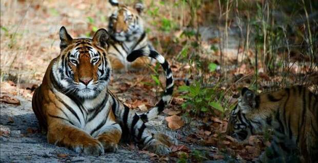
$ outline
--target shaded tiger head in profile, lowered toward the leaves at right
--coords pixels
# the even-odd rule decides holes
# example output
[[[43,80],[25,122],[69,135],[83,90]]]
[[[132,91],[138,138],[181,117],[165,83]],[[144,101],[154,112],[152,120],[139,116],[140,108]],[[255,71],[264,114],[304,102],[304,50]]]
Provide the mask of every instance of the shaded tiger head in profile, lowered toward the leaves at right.
[[[250,135],[263,133],[271,116],[268,108],[260,107],[260,102],[260,95],[243,88],[237,105],[230,113],[227,134],[238,140],[245,140]]]

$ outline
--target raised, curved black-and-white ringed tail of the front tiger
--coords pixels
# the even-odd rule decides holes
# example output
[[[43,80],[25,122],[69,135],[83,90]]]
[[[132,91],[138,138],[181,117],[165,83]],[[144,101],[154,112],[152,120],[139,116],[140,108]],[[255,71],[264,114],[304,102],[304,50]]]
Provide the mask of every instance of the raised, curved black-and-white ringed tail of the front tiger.
[[[155,50],[145,50],[145,49],[138,49],[132,51],[128,56],[127,60],[128,62],[133,62],[135,59],[141,56],[148,56],[151,58],[154,58],[161,64],[165,71],[166,75],[166,90],[162,95],[162,98],[158,103],[155,105],[155,107],[151,108],[149,111],[147,111],[144,114],[140,114],[140,118],[147,122],[148,120],[157,117],[160,113],[162,113],[165,109],[165,106],[170,103],[170,99],[172,97],[173,92],[173,77],[172,77],[172,71],[170,69],[170,66],[165,59],[164,56],[156,52]]]

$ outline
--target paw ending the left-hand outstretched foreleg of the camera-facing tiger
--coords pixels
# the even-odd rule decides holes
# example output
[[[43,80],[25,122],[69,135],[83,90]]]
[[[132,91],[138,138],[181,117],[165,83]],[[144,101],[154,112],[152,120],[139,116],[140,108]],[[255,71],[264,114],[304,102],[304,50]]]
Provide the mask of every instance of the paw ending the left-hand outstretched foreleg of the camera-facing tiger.
[[[104,147],[100,141],[91,139],[75,145],[74,151],[77,153],[84,153],[86,155],[102,155],[104,154]]]

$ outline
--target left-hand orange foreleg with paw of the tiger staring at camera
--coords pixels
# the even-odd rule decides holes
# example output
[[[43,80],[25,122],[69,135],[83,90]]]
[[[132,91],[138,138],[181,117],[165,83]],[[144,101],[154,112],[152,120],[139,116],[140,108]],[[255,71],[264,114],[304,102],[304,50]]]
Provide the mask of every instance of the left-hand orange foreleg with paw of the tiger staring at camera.
[[[69,124],[64,118],[49,116],[47,138],[50,144],[57,144],[73,149],[77,153],[87,155],[104,154],[104,148],[100,141],[91,137],[83,130]]]

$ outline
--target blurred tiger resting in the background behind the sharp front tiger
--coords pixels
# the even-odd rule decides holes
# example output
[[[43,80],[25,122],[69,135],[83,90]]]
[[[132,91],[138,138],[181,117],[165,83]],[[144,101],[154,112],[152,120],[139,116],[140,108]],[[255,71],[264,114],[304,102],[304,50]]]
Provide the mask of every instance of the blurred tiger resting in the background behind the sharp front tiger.
[[[112,68],[116,71],[136,70],[153,63],[149,57],[137,58],[130,63],[126,57],[133,50],[154,50],[148,41],[144,29],[144,21],[141,13],[144,10],[142,3],[136,3],[133,7],[119,4],[110,0],[110,4],[116,7],[109,17],[108,31],[111,36],[108,54]]]

